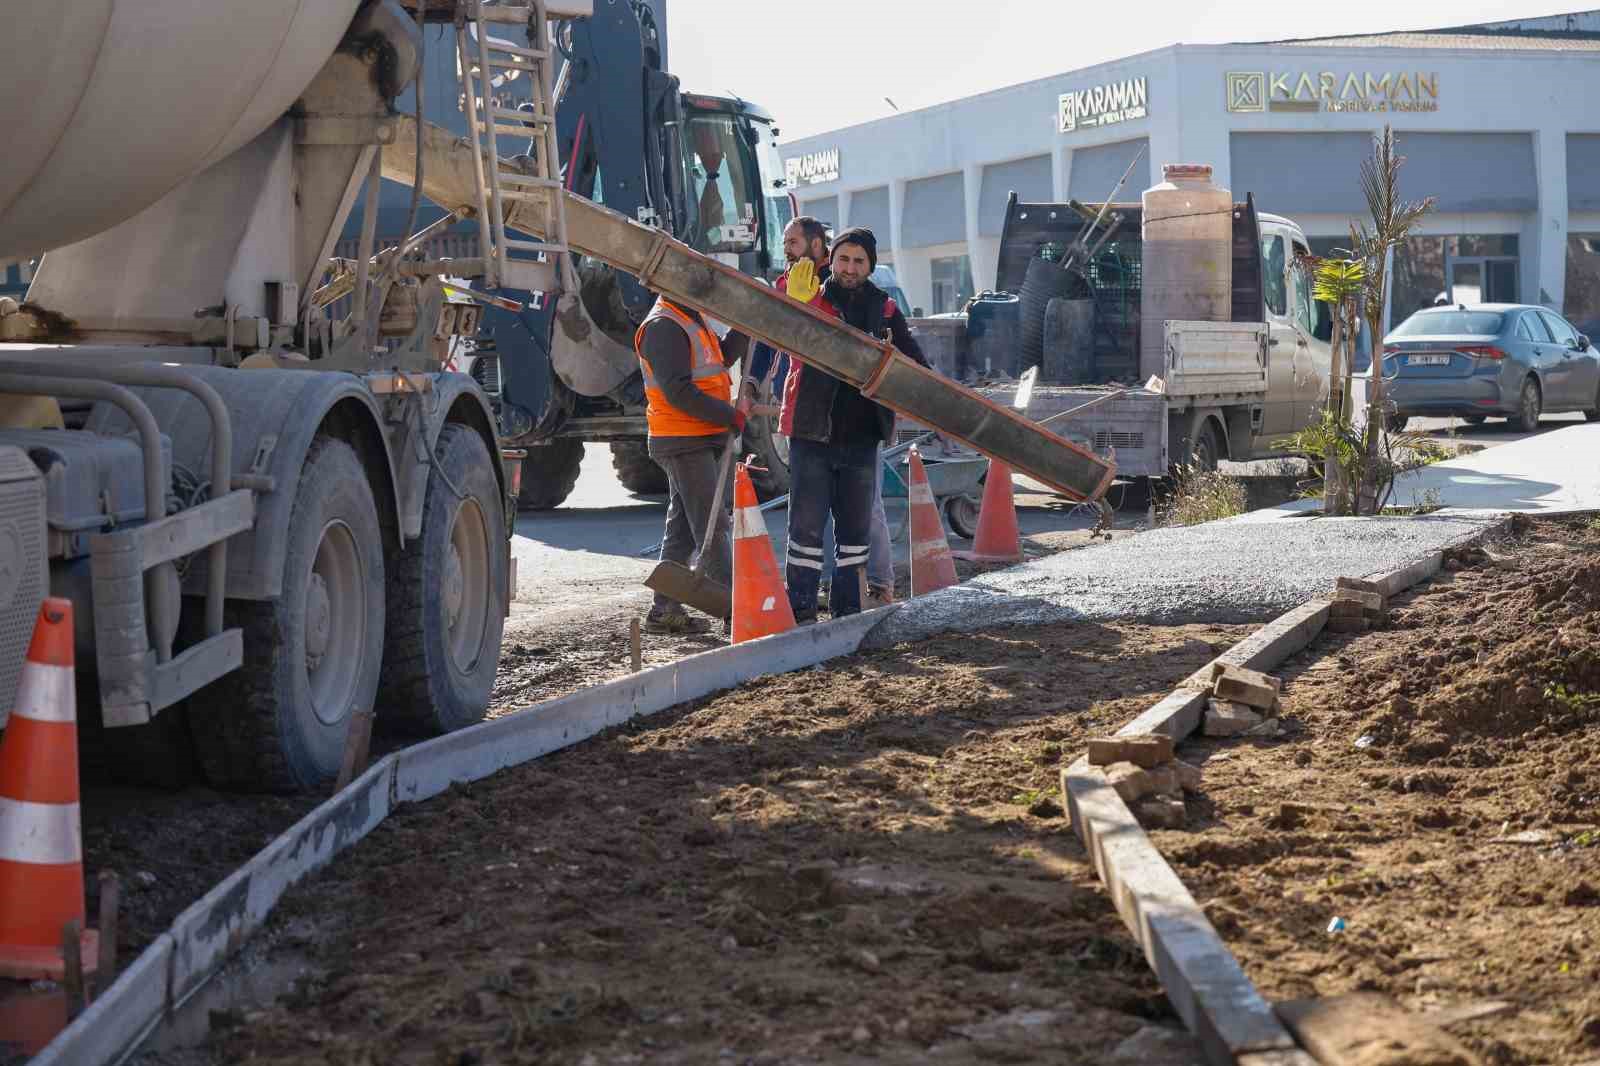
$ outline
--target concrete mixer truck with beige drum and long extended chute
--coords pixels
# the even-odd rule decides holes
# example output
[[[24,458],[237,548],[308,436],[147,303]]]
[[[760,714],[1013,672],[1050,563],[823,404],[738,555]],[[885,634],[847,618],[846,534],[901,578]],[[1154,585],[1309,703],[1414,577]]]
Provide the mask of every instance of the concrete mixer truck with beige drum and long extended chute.
[[[1074,498],[1112,464],[669,234],[563,192],[547,19],[590,0],[59,0],[0,40],[0,707],[42,597],[74,603],[80,722],[142,776],[296,789],[355,712],[478,720],[515,587],[483,392],[442,373],[494,291],[584,320],[573,253],[730,322]],[[395,110],[453,22],[467,134]],[[486,32],[512,27],[526,45]],[[507,64],[531,109],[494,104]],[[40,91],[40,86],[50,86]],[[501,157],[501,134],[528,150]],[[446,214],[331,253],[381,178]],[[472,259],[429,261],[472,219]],[[459,282],[475,279],[462,303]],[[448,291],[446,291],[448,290]],[[347,307],[334,314],[336,307]]]

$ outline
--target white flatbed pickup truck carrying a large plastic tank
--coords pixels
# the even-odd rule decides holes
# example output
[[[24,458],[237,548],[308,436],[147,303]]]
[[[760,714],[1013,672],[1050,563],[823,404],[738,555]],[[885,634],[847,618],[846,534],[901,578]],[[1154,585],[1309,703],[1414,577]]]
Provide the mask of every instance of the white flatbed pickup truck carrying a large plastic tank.
[[[1083,298],[1094,303],[1091,351],[1067,360],[1078,368],[1075,381],[1042,379],[1032,389],[1029,418],[1101,400],[1051,429],[1101,453],[1115,448],[1122,477],[1283,455],[1278,442],[1314,421],[1328,399],[1331,319],[1312,298],[1306,234],[1286,218],[1258,214],[1248,197],[1237,203],[1232,320],[1166,322],[1160,381],[1150,381],[1138,360],[1141,208],[1112,205],[1112,211],[1122,222],[1086,271],[1091,293]],[[1013,194],[1000,242],[1000,288],[1022,291],[1027,262],[1046,245],[1070,242],[1082,224],[1069,205],[1019,203]],[[976,352],[974,362],[981,365]],[[1053,362],[1059,363],[1046,359]],[[1118,389],[1122,395],[1106,399]],[[984,392],[1008,403],[1016,386]]]

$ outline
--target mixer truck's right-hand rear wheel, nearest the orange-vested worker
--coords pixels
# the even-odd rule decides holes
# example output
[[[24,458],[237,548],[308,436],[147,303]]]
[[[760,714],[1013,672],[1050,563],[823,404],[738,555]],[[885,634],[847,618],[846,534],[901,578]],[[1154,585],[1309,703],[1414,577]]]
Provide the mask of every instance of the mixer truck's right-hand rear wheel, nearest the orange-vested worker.
[[[490,450],[450,424],[434,461],[422,535],[389,557],[378,693],[386,722],[429,735],[483,719],[506,627],[506,507]]]

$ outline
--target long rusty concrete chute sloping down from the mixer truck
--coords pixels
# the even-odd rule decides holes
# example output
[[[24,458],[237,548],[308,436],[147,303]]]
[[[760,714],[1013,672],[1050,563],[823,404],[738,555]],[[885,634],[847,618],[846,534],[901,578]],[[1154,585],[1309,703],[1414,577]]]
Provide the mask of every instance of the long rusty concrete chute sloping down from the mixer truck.
[[[384,147],[384,176],[410,184],[416,173],[414,118],[402,117],[400,136]],[[472,147],[446,130],[424,123],[422,192],[435,203],[472,210]],[[646,288],[696,307],[806,365],[858,386],[878,403],[963,440],[1074,499],[1098,499],[1110,487],[1115,464],[998,407],[955,381],[901,355],[891,344],[838,319],[786,298],[766,283],[704,256],[666,232],[642,226],[570,192],[566,240],[571,248],[626,271]],[[514,202],[506,226],[544,235],[547,205]]]

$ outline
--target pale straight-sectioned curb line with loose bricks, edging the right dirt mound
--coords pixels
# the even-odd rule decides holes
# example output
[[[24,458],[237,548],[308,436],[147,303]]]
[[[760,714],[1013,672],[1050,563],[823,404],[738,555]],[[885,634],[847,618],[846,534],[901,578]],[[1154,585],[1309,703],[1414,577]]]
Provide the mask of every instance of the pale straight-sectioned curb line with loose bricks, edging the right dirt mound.
[[[1509,519],[1451,541],[1398,570],[1371,576],[1384,597],[1397,595],[1440,571],[1445,554],[1502,531]],[[1310,645],[1328,621],[1330,603],[1312,600],[1267,623],[1213,663],[1270,671]],[[1200,728],[1211,664],[1186,677],[1165,699],[1117,731],[1166,733],[1174,741]],[[1240,968],[1206,920],[1200,904],[1146,836],[1144,828],[1106,781],[1078,759],[1061,771],[1061,794],[1072,828],[1123,924],[1139,940],[1166,999],[1200,1040],[1213,1066],[1315,1066],[1278,1021],[1272,1005]]]

